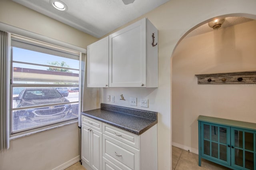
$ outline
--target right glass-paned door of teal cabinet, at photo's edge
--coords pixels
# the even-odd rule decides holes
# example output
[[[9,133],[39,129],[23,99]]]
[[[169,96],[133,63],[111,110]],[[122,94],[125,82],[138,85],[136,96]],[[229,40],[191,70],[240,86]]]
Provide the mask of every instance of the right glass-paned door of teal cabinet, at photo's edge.
[[[256,170],[256,132],[231,128],[231,165],[243,170]]]

